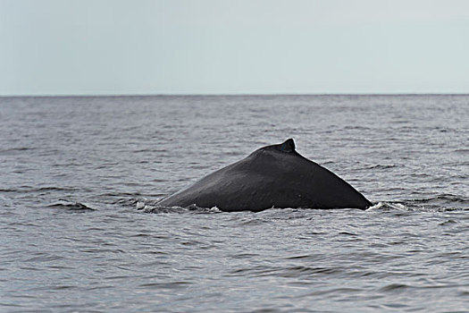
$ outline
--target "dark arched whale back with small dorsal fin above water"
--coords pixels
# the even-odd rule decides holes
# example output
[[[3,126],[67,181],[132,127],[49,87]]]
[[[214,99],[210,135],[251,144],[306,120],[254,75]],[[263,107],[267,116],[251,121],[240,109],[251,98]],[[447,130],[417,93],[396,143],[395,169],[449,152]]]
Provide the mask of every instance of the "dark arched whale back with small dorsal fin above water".
[[[366,209],[372,203],[338,175],[297,153],[289,139],[258,148],[157,206],[259,212],[272,207]]]

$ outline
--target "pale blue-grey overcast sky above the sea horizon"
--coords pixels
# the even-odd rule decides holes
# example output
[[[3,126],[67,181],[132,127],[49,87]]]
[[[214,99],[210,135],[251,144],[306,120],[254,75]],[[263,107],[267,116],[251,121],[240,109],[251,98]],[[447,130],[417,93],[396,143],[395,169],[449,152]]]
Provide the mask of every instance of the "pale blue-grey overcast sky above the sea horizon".
[[[0,96],[469,93],[465,0],[0,0]]]

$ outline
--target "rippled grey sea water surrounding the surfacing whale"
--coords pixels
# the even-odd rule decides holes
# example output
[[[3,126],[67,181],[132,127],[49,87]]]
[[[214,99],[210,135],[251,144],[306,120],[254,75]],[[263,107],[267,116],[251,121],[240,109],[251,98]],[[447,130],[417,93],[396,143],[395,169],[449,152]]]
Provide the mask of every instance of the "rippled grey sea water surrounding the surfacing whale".
[[[155,207],[290,137],[375,206]],[[468,139],[469,96],[0,98],[0,311],[468,312]]]

